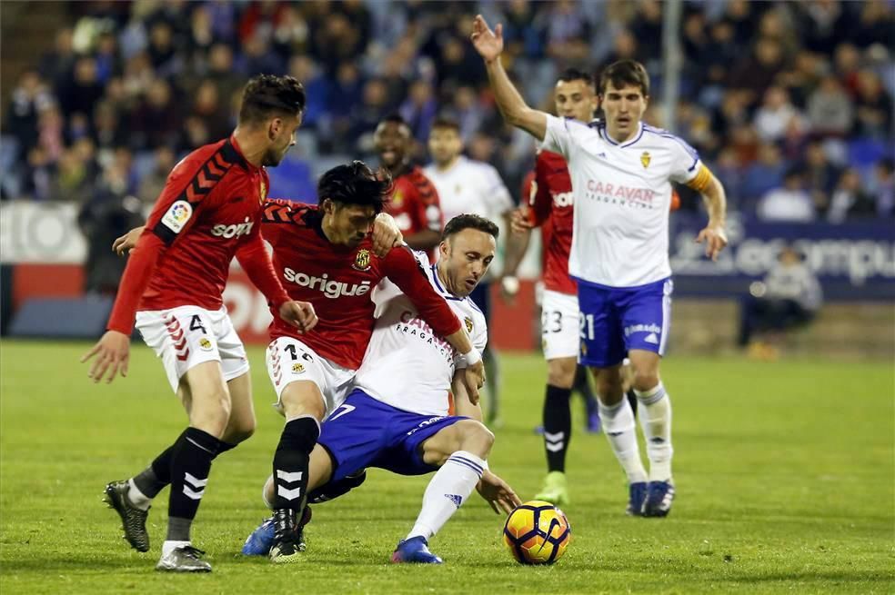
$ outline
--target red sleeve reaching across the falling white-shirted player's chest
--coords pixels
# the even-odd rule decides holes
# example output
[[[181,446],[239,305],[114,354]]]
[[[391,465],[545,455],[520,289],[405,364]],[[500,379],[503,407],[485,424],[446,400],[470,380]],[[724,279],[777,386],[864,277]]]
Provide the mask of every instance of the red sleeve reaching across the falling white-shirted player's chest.
[[[447,337],[460,330],[460,321],[448,302],[438,295],[426,273],[419,268],[417,259],[407,246],[392,248],[383,259],[382,272],[404,292],[420,317],[432,330]]]

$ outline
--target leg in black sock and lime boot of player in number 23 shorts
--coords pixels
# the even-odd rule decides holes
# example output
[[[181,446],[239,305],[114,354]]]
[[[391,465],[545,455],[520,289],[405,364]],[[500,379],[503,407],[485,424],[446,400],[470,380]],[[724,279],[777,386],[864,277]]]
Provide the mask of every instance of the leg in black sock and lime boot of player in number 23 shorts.
[[[568,504],[566,452],[572,437],[572,412],[569,398],[575,382],[578,359],[554,358],[547,361],[547,394],[544,399],[544,451],[547,453],[547,478],[535,500]]]

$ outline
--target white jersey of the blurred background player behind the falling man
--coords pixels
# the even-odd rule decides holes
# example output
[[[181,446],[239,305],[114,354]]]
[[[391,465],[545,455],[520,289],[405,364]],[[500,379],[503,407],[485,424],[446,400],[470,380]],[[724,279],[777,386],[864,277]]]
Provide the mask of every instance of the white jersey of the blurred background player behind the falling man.
[[[491,164],[460,155],[457,163],[441,172],[435,164],[423,168],[438,191],[445,223],[459,214],[473,213],[497,223],[513,208],[507,184]]]

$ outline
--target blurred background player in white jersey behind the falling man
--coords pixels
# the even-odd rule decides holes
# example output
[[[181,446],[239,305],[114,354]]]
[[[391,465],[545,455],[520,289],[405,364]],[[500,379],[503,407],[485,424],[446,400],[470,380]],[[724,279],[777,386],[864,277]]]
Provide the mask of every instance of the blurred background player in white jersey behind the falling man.
[[[469,159],[463,154],[463,140],[457,122],[436,118],[428,138],[432,163],[423,173],[435,184],[441,201],[445,221],[463,213],[472,213],[498,221],[509,222],[514,203],[507,185],[500,179],[498,170],[491,164]],[[485,319],[490,319],[490,287],[488,280],[478,283],[470,296],[476,302]],[[485,350],[486,387],[488,388],[488,425],[499,425],[500,374],[497,353],[490,347]]]

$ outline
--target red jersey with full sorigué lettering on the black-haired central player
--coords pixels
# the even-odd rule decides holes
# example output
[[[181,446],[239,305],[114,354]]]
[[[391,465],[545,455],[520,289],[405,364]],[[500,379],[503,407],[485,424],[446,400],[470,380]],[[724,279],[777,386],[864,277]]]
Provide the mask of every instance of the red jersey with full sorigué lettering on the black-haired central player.
[[[460,329],[458,318],[428,282],[412,251],[392,248],[377,257],[367,237],[350,247],[329,242],[316,205],[268,200],[261,233],[274,250],[274,270],[289,297],[311,302],[317,326],[305,334],[274,313],[270,338],[295,337],[320,357],[357,370],[373,332],[374,288],[387,277],[441,336]]]

